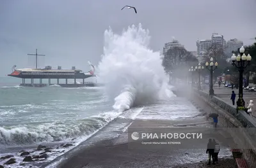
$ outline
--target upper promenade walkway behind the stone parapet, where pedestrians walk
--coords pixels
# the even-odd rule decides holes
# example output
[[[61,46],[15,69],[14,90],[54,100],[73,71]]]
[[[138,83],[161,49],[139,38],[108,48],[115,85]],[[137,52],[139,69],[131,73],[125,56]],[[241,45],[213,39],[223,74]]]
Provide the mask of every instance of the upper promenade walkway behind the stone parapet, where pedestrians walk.
[[[202,88],[204,88],[204,87],[202,87]],[[230,106],[233,106],[232,101],[230,100],[230,97],[232,94],[232,88],[224,87],[223,85],[221,85],[221,87],[219,87],[218,84],[215,84],[213,89],[214,89],[214,94],[217,97],[220,97],[227,104],[230,104]],[[233,90],[235,91],[236,101],[237,101],[239,89],[234,88]],[[204,91],[209,92],[209,88],[208,87],[204,88]],[[255,104],[256,103],[256,92],[252,92],[250,90],[243,89],[243,98],[244,98],[245,106],[248,106],[247,102],[249,102],[250,100],[253,100],[253,104]],[[236,101],[235,101],[234,107],[236,107]],[[253,108],[252,115],[256,117],[256,105]]]

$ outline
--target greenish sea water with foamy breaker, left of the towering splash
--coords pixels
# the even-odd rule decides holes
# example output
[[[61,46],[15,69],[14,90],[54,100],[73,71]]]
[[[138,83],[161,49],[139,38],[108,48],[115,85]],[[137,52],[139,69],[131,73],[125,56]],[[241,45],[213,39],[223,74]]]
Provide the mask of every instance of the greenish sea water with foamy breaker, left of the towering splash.
[[[19,87],[19,79],[0,79],[0,146],[88,136],[115,116],[101,88]]]

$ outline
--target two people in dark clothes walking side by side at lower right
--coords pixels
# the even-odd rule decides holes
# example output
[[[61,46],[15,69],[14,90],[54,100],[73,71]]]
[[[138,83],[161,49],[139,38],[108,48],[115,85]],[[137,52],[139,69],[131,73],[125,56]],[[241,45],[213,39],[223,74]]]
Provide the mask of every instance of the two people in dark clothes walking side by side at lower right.
[[[218,154],[220,151],[220,144],[218,144],[215,139],[209,139],[207,144],[206,153],[209,155],[209,160],[207,165],[211,165],[211,158],[212,164],[214,165],[215,162],[218,164]]]

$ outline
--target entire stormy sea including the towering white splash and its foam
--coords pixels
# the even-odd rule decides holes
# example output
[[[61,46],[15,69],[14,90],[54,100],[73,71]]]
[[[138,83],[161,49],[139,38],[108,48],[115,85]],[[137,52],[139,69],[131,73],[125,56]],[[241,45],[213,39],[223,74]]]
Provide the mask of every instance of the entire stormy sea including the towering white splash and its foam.
[[[108,29],[103,38],[96,73],[104,87],[19,87],[19,79],[0,78],[0,165],[15,158],[4,167],[40,167],[88,141],[116,118],[124,122],[98,139],[117,137],[134,119],[172,123],[199,114],[191,102],[171,91],[160,53],[148,46],[148,30],[141,25],[122,34]],[[33,162],[23,162],[28,155]],[[198,160],[179,158],[180,164]],[[48,167],[55,166],[52,162]]]

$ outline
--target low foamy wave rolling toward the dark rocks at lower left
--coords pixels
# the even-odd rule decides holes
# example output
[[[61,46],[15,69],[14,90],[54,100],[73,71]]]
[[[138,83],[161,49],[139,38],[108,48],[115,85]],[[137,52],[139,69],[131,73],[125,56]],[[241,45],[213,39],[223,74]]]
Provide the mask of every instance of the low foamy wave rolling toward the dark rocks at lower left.
[[[1,145],[33,144],[38,142],[54,142],[74,137],[90,136],[102,128],[113,118],[104,118],[105,114],[71,123],[54,122],[40,125],[22,125],[0,127]]]

